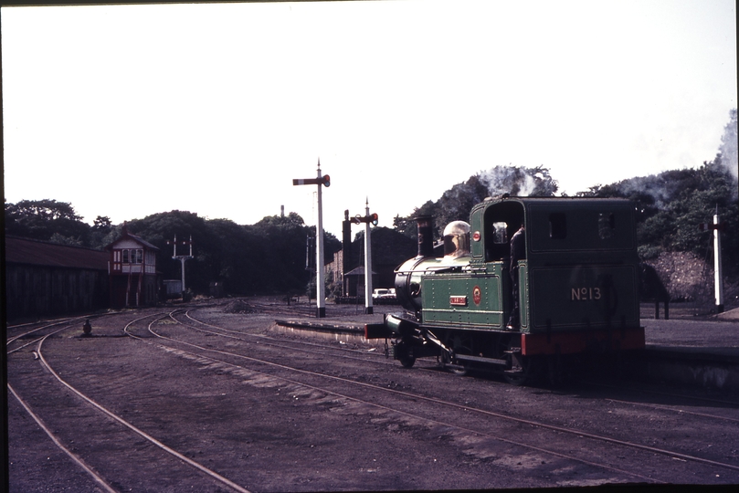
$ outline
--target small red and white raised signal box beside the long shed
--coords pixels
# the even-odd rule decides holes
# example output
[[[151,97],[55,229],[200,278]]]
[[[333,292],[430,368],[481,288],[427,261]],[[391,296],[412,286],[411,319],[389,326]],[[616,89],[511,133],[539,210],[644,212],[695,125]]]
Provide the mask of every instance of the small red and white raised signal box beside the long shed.
[[[155,305],[157,300],[156,252],[159,248],[128,232],[111,243],[111,308]]]

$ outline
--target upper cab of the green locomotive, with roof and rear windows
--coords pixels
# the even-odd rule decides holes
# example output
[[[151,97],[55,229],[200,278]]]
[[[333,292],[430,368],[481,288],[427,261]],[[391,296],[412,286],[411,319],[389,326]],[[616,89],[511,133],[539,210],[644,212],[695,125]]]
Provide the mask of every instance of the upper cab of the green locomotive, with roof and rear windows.
[[[508,197],[486,199],[470,213],[473,262],[510,254],[513,234],[524,226],[530,259],[577,255],[636,255],[634,206],[625,199]]]

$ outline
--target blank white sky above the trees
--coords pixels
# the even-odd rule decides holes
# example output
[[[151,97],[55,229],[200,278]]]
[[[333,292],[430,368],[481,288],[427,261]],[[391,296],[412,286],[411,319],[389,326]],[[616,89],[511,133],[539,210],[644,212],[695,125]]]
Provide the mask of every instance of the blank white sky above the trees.
[[[3,7],[5,198],[381,226],[496,165],[575,194],[713,160],[734,0]],[[356,229],[356,228],[355,228]],[[358,231],[358,229],[357,229]]]

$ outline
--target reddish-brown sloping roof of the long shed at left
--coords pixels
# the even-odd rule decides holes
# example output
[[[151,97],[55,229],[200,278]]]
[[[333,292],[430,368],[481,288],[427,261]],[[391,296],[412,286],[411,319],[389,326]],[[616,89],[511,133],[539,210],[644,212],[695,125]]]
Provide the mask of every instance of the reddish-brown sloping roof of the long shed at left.
[[[5,236],[5,263],[108,270],[109,255],[91,248]]]

